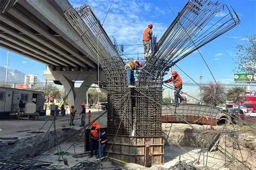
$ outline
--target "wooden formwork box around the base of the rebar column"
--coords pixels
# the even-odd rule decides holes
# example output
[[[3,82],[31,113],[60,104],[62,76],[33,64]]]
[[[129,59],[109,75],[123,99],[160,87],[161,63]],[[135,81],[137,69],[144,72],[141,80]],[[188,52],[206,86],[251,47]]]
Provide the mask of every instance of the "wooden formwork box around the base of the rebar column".
[[[146,147],[149,147],[149,152],[146,151]],[[162,165],[164,164],[164,139],[163,136],[117,135],[115,137],[108,134],[105,147],[105,154],[107,153],[109,153],[109,157],[143,166],[149,165],[149,163],[151,163],[150,165]]]

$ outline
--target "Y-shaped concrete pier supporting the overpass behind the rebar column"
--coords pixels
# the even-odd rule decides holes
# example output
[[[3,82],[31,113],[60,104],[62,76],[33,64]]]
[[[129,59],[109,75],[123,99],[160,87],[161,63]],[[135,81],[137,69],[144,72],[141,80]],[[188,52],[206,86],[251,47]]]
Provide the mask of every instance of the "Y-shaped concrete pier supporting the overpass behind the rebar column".
[[[68,94],[68,104],[75,105],[77,113],[82,111],[80,107],[81,103],[86,103],[85,96],[87,90],[95,83],[98,78],[97,71],[94,70],[78,70],[78,68],[72,68],[72,70],[60,68],[60,67],[48,67],[44,75],[48,81],[58,81],[65,88],[66,94]],[[105,74],[100,71],[99,73],[99,86],[103,87],[106,81]],[[75,81],[83,81],[80,87],[75,87]]]

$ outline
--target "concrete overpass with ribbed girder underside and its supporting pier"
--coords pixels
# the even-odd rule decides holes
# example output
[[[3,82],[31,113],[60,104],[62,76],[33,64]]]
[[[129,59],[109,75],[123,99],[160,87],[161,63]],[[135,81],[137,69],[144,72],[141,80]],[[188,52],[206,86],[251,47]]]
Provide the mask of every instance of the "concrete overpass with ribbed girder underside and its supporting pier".
[[[88,86],[97,80],[97,60],[63,15],[71,5],[68,0],[1,2],[0,46],[48,65],[46,79],[71,89],[70,104],[83,102]],[[105,86],[103,72],[99,78]],[[84,83],[75,88],[74,80]]]

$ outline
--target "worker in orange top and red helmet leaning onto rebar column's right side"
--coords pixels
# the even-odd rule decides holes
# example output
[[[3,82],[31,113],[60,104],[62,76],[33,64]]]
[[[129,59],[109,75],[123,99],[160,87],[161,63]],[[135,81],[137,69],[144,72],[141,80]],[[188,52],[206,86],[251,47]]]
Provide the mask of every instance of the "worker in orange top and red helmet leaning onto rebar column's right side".
[[[184,98],[179,94],[180,90],[182,89],[182,80],[179,74],[176,71],[172,72],[172,75],[170,79],[164,81],[165,83],[170,83],[173,82],[174,86],[174,99],[175,99],[175,104],[173,104],[176,107],[179,107],[179,100],[180,103],[184,100]],[[178,100],[179,98],[179,100]]]

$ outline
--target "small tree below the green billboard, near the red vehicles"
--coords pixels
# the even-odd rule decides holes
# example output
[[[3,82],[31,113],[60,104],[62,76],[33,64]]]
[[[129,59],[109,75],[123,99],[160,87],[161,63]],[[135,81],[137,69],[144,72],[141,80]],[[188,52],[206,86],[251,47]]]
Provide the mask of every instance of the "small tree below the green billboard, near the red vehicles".
[[[244,101],[246,90],[243,87],[233,87],[227,90],[226,97],[228,101],[240,103]]]

